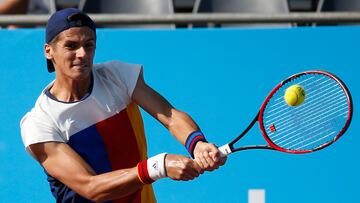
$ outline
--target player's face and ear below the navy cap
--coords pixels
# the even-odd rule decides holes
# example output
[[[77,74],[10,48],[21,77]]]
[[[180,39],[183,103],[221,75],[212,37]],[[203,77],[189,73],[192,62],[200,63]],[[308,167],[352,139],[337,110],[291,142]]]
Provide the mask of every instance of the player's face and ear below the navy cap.
[[[90,76],[95,48],[95,33],[88,27],[74,27],[45,44],[45,55],[53,61],[57,77],[82,80]]]

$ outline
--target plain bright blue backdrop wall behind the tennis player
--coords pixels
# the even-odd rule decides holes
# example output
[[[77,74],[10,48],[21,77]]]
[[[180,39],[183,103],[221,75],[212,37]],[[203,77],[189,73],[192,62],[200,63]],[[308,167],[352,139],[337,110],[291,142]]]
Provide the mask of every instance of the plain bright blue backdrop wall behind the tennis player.
[[[190,182],[154,183],[159,202],[246,202],[264,189],[267,202],[360,202],[360,27],[290,29],[98,30],[95,62],[144,65],[145,79],[222,145],[255,116],[268,92],[296,72],[338,75],[354,100],[339,142],[306,155],[246,151]],[[53,202],[42,168],[25,153],[19,120],[53,80],[43,56],[44,30],[0,30],[0,202]],[[146,113],[149,155],[186,150]],[[253,129],[243,144],[262,142]]]

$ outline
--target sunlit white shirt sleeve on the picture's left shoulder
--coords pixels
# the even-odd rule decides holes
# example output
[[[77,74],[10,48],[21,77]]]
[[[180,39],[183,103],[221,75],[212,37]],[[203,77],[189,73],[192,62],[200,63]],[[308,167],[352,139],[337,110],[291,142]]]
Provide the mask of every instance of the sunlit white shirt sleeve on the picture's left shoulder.
[[[31,154],[29,146],[42,142],[63,142],[61,134],[45,116],[34,115],[33,112],[27,113],[20,122],[21,138],[26,150]]]

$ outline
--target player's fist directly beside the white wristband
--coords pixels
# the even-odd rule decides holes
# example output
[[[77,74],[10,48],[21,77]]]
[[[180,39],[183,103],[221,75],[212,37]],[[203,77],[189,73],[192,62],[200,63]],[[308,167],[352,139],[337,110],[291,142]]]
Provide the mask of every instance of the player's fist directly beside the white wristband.
[[[165,157],[167,176],[173,180],[193,180],[203,173],[201,167],[191,158],[175,154]]]

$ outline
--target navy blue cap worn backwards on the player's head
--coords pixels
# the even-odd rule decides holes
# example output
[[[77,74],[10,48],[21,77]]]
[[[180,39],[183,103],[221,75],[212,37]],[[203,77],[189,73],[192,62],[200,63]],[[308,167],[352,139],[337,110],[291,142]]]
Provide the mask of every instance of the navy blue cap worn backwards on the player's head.
[[[89,27],[96,35],[96,26],[93,20],[76,8],[66,8],[52,14],[46,25],[46,43],[51,42],[62,31],[72,27]],[[49,72],[54,72],[55,68],[51,60],[47,60]]]

